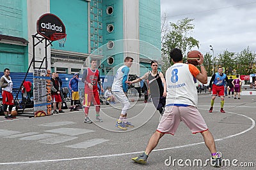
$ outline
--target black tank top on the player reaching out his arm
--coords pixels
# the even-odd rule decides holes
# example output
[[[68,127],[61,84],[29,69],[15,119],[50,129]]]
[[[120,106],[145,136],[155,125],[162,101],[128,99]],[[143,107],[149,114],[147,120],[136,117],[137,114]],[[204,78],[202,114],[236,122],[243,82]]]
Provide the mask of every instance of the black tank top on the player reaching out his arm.
[[[148,82],[150,88],[150,95],[152,97],[163,96],[164,87],[162,80],[159,76],[159,71],[157,71],[156,76],[152,76],[151,71],[148,73]],[[152,81],[151,81],[152,80]]]

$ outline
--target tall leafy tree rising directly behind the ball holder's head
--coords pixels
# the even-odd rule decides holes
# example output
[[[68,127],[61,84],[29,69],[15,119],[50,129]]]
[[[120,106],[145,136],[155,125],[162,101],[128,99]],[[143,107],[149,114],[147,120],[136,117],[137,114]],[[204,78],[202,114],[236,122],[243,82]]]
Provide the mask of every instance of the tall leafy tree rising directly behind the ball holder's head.
[[[162,60],[164,65],[162,70],[165,73],[166,69],[170,67],[170,50],[172,48],[180,48],[182,52],[191,50],[197,46],[199,48],[199,41],[191,36],[195,25],[193,25],[191,18],[184,18],[178,20],[177,23],[170,22],[170,31],[164,35],[162,43]],[[163,35],[162,35],[163,36]]]

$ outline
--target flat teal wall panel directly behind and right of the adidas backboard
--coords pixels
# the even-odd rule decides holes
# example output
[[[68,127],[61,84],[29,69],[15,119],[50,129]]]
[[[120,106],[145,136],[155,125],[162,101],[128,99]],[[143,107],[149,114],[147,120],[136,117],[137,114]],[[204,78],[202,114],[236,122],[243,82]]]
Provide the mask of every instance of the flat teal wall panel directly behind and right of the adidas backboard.
[[[60,47],[58,41],[52,43],[52,48],[70,52],[88,53],[88,5],[82,0],[51,1],[51,13],[61,19],[66,27],[67,41]]]

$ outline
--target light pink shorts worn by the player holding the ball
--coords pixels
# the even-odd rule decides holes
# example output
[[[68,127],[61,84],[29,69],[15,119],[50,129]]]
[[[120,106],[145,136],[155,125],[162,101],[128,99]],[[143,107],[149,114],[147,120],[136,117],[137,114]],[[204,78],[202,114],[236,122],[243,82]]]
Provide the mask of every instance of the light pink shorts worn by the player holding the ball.
[[[194,106],[166,106],[157,131],[174,135],[180,121],[184,122],[193,134],[208,130],[204,118]]]

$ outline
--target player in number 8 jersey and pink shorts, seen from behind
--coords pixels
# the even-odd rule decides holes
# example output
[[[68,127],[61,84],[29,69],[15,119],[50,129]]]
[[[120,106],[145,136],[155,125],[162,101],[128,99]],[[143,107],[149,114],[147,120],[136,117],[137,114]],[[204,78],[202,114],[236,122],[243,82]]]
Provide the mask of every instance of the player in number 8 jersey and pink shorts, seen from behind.
[[[148,141],[145,152],[139,157],[134,157],[134,162],[145,164],[148,154],[157,146],[159,139],[164,134],[174,135],[180,122],[184,122],[193,134],[200,132],[204,137],[205,145],[211,152],[211,164],[215,167],[221,166],[221,158],[216,152],[214,138],[205,124],[204,118],[197,110],[197,91],[193,77],[201,83],[207,83],[207,73],[205,71],[204,57],[200,54],[198,64],[201,73],[192,64],[182,62],[182,52],[179,48],[173,48],[170,52],[173,66],[166,71],[167,97],[166,107],[157,127],[156,132]]]

